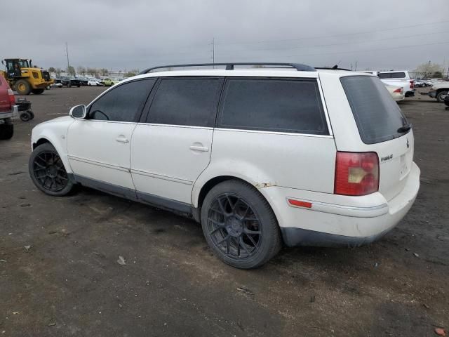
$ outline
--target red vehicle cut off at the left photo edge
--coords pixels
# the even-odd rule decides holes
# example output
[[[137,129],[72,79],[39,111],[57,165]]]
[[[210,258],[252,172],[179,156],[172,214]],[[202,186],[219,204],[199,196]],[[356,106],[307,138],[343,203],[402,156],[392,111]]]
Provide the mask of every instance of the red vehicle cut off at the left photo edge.
[[[18,116],[18,107],[15,105],[14,93],[6,79],[0,76],[0,140],[13,137],[15,116]]]

